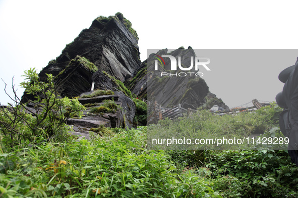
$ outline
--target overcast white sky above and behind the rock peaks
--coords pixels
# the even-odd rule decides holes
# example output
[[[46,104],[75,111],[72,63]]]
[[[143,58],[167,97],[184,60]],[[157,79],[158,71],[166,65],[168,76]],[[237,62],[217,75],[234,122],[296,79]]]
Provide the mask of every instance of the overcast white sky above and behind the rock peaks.
[[[102,15],[123,13],[139,35],[141,60],[146,59],[147,48],[194,49],[295,49],[295,1],[12,1],[0,0],[0,77],[10,89],[12,77],[16,86],[21,75],[30,67],[38,71],[49,60],[61,54],[82,29]],[[280,66],[262,65],[264,77],[254,75],[260,65],[226,66],[219,78],[208,73],[206,82],[210,91],[222,98],[229,107],[235,107],[254,98],[274,101],[282,90],[278,74],[295,63],[280,61]],[[212,70],[212,68],[210,68]],[[217,72],[218,73],[218,72]],[[228,74],[228,75],[227,75]],[[251,76],[248,80],[248,76]],[[234,83],[230,78],[236,77]],[[268,76],[274,76],[269,78]],[[203,76],[204,78],[204,76]],[[229,79],[229,80],[227,80]],[[219,86],[220,85],[220,86]],[[256,88],[258,87],[258,88]],[[266,89],[270,87],[269,89]],[[9,101],[0,81],[0,102]],[[226,90],[229,90],[228,92]],[[233,90],[233,91],[230,91]],[[21,96],[23,90],[19,88]]]

